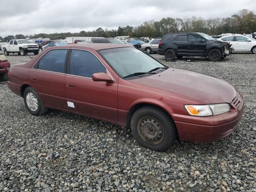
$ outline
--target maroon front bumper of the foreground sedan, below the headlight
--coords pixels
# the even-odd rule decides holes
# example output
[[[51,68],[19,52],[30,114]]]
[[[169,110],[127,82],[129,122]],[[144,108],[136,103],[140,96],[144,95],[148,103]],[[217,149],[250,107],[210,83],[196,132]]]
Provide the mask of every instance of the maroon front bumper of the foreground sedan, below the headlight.
[[[230,104],[230,112],[224,114],[196,117],[171,114],[176,124],[179,138],[191,142],[215,142],[229,136],[242,118],[244,99],[241,96],[240,106]]]

